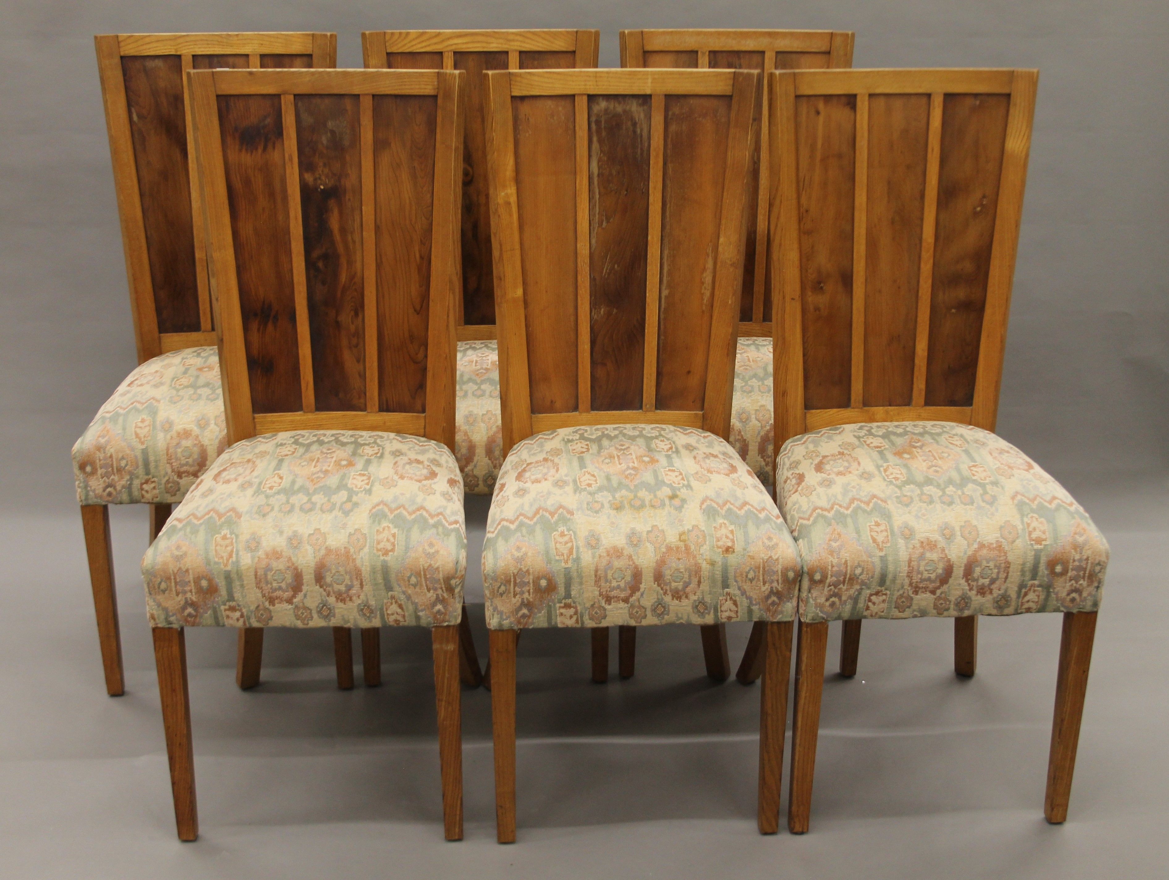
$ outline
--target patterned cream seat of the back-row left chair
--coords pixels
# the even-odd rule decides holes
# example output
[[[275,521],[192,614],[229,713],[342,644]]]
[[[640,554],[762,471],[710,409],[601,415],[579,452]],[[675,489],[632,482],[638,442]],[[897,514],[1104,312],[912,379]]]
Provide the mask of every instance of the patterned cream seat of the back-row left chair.
[[[146,361],[74,444],[82,504],[170,504],[227,445],[219,353],[185,348]]]

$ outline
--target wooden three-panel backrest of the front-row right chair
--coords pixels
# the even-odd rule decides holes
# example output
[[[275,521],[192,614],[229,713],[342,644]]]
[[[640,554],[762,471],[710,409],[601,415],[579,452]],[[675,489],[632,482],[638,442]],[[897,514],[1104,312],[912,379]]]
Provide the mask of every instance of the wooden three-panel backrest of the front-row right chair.
[[[772,75],[775,444],[995,429],[1038,74]]]

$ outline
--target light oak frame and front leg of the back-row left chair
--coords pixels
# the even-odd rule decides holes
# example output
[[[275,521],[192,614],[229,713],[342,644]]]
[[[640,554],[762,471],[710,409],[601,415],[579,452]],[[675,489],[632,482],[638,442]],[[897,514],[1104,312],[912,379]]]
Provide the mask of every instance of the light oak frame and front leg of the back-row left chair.
[[[113,165],[113,186],[118,200],[122,245],[130,285],[130,311],[134,324],[134,346],[138,362],[192,346],[215,345],[214,304],[207,278],[206,231],[202,217],[198,179],[194,174],[194,133],[191,127],[191,102],[186,71],[199,63],[226,62],[224,56],[243,60],[250,68],[260,68],[275,57],[296,55],[307,58],[312,67],[333,67],[337,63],[337,35],[318,33],[260,33],[260,34],[104,34],[94,37],[97,50],[102,102],[110,138],[110,158]],[[126,95],[124,64],[126,58],[178,56],[182,79],[182,123],[186,129],[185,160],[191,200],[191,233],[194,256],[195,290],[199,307],[199,330],[194,332],[159,332],[157,297],[151,268],[147,223],[144,205],[157,208],[161,201],[151,199],[141,186],[136,160],[132,112]],[[208,57],[210,56],[210,57]],[[281,61],[286,58],[281,57]],[[153,230],[166,235],[165,227]],[[162,266],[165,269],[165,266]],[[125,693],[122,665],[122,635],[118,625],[118,602],[113,580],[113,560],[110,547],[110,513],[106,505],[82,505],[82,529],[89,559],[90,585],[97,615],[98,642],[105,690],[111,697]],[[171,515],[170,504],[150,505],[150,540],[153,541]]]

